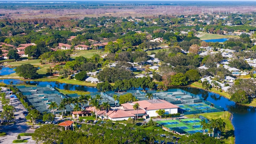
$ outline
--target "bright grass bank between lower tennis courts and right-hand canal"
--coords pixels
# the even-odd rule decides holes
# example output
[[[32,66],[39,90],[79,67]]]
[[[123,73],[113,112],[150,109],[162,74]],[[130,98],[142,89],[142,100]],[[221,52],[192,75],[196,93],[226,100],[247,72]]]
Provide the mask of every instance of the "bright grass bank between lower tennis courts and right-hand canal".
[[[206,117],[207,119],[211,120],[211,119],[216,119],[216,118],[223,118],[224,122],[225,122],[225,129],[222,132],[222,136],[224,136],[221,140],[224,140],[226,143],[228,144],[234,144],[234,127],[230,121],[230,112],[225,111],[225,112],[212,112],[212,113],[205,113],[205,114],[200,114],[204,117]],[[186,115],[186,117],[188,118],[193,118],[194,115]]]

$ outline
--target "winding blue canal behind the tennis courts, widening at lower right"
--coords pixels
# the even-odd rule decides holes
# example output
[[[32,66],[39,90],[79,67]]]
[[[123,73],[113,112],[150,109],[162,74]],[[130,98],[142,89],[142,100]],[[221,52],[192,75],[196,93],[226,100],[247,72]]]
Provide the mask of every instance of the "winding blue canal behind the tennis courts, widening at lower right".
[[[85,90],[89,92],[97,91],[97,88],[73,84],[62,84],[59,82],[24,82],[21,80],[10,79],[4,80],[4,83],[9,84],[11,80],[14,82],[14,84],[50,84],[54,87],[65,90]],[[2,80],[0,82],[2,82]],[[213,104],[221,106],[224,108],[224,110],[231,112],[233,114],[232,123],[235,127],[234,134],[236,137],[236,144],[254,144],[254,130],[256,130],[256,123],[254,120],[256,119],[256,108],[236,105],[227,98],[212,92],[207,92],[205,90],[184,87],[180,89],[191,92],[192,94],[197,94],[198,96],[202,96],[204,100],[212,102]]]

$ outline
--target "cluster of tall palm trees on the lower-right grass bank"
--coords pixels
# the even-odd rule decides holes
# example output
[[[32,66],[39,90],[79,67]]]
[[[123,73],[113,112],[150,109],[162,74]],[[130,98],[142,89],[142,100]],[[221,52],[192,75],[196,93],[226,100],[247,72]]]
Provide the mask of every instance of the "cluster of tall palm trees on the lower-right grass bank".
[[[206,129],[209,130],[208,132],[209,136],[210,136],[210,133],[212,133],[212,137],[214,137],[214,132],[217,132],[218,139],[220,139],[221,132],[222,130],[224,130],[226,125],[222,118],[212,119],[210,120],[209,123],[206,123],[206,120],[204,119],[200,123],[201,123],[200,127],[202,127],[202,130],[204,130],[204,134]]]

